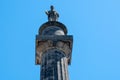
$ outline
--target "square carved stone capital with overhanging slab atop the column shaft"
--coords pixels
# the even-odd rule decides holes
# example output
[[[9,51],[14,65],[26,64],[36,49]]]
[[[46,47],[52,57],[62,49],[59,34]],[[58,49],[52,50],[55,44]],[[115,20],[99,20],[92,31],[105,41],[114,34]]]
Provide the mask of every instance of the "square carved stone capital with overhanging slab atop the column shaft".
[[[65,53],[68,64],[71,62],[72,36],[36,37],[36,64],[41,64],[42,54],[49,49],[58,49]]]

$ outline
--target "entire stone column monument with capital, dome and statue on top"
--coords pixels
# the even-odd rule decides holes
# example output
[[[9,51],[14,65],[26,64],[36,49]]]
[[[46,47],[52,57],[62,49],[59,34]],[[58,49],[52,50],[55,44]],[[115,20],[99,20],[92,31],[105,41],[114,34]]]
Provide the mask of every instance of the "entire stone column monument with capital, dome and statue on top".
[[[36,64],[41,65],[41,80],[69,80],[68,64],[71,63],[73,36],[57,21],[59,15],[47,11],[48,22],[41,25],[36,36]]]

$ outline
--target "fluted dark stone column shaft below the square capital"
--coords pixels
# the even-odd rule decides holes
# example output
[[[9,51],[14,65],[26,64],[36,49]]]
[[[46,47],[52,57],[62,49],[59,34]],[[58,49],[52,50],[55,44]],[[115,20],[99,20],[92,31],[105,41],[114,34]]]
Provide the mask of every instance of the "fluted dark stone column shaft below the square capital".
[[[42,55],[41,80],[68,80],[65,54],[58,49],[50,49]]]

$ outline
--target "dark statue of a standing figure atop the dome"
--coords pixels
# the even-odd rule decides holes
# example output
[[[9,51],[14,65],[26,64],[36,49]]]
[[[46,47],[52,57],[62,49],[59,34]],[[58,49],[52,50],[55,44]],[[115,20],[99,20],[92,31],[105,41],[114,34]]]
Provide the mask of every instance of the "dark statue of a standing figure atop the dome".
[[[50,8],[51,8],[50,11],[45,12],[48,15],[48,20],[49,21],[57,21],[59,14],[54,10],[53,6],[51,6]]]

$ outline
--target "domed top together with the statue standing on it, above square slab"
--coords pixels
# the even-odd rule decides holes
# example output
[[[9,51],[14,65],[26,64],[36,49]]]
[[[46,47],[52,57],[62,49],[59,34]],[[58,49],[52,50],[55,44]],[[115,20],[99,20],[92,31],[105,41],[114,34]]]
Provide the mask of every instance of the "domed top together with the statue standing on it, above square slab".
[[[46,11],[48,22],[40,26],[39,35],[67,35],[67,28],[64,24],[58,22],[59,14],[51,6],[50,11]]]

